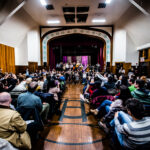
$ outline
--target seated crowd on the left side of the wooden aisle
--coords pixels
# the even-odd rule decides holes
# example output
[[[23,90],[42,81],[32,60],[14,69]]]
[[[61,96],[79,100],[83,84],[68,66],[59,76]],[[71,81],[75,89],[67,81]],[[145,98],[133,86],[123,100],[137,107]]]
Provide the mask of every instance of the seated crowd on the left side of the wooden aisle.
[[[15,75],[0,71],[0,138],[6,140],[6,149],[31,149],[44,124],[60,113],[65,88],[64,72],[30,73],[27,69]]]

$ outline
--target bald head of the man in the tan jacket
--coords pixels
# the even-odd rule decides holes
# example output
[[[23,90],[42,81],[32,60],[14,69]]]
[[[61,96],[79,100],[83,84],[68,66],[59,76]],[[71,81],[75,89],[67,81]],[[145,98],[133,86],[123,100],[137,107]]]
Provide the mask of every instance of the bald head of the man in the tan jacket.
[[[11,102],[11,96],[7,92],[0,93],[0,105],[9,106]]]

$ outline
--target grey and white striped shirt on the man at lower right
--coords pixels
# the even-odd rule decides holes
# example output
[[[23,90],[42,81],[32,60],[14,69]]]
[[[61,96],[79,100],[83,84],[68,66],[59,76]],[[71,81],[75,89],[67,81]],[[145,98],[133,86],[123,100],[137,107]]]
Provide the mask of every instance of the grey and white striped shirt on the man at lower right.
[[[150,143],[150,117],[123,125],[120,124],[118,118],[115,118],[115,126],[117,131],[123,135],[125,147],[136,149],[139,145]]]

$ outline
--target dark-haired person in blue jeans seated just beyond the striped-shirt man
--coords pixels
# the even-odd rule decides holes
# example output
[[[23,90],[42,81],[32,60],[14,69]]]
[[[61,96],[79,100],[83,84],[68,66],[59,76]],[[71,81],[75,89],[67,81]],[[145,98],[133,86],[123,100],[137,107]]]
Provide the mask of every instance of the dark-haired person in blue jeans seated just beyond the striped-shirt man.
[[[97,109],[91,109],[90,111],[94,113],[94,115],[97,115],[99,112],[105,112],[102,114],[104,116],[103,121],[99,122],[99,125],[103,127],[105,126],[105,123],[106,126],[109,127],[109,122],[114,118],[114,113],[118,110],[125,110],[126,101],[131,97],[132,96],[128,87],[122,85],[120,86],[120,95],[116,97],[117,99],[114,102],[110,100],[104,100]]]

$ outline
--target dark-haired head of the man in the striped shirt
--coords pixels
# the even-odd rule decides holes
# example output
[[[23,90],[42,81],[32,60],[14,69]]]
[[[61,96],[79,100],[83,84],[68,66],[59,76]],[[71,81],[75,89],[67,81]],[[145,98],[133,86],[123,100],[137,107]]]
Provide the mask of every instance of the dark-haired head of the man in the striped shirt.
[[[136,119],[142,119],[144,117],[145,108],[139,100],[135,98],[128,99],[126,107]]]

